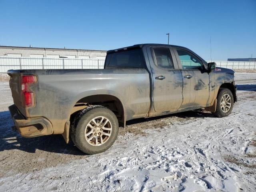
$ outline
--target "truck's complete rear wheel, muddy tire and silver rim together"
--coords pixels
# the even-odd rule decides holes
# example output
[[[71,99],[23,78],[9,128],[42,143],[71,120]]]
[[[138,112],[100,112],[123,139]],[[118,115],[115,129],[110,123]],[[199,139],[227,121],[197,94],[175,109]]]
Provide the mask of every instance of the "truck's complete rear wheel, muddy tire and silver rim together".
[[[76,115],[70,128],[72,141],[82,152],[106,151],[118,135],[115,114],[103,106],[89,106]]]

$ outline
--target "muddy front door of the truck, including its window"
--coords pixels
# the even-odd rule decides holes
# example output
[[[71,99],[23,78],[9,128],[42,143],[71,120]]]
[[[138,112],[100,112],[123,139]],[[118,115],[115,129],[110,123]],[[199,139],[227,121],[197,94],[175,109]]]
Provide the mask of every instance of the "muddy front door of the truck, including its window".
[[[202,60],[189,50],[174,48],[183,77],[183,102],[180,108],[206,106],[209,102],[209,74]]]

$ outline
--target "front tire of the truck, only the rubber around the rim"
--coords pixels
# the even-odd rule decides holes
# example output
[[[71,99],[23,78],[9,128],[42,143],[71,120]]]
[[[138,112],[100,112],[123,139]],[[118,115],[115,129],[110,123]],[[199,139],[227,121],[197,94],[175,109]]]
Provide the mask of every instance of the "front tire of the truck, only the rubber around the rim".
[[[224,112],[221,108],[221,99],[225,94],[228,94],[231,98],[231,106],[227,112]],[[220,90],[218,92],[218,96],[217,96],[216,111],[213,112],[212,114],[214,114],[214,116],[216,116],[216,117],[226,117],[232,112],[233,105],[234,105],[234,97],[233,97],[232,92],[227,88],[220,88]]]

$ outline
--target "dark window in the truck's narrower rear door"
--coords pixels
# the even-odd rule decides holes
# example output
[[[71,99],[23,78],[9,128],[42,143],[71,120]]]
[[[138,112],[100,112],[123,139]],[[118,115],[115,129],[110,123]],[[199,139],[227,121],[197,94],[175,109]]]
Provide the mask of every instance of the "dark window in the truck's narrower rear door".
[[[169,48],[154,47],[153,50],[156,57],[156,66],[166,69],[174,68]]]

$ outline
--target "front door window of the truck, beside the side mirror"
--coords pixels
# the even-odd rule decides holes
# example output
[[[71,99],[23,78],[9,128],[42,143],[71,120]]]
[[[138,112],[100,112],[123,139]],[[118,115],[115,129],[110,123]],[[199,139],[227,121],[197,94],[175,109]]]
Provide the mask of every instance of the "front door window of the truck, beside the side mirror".
[[[200,69],[203,64],[194,54],[186,51],[177,49],[182,69]]]

